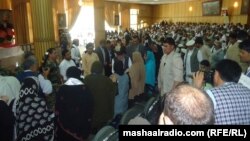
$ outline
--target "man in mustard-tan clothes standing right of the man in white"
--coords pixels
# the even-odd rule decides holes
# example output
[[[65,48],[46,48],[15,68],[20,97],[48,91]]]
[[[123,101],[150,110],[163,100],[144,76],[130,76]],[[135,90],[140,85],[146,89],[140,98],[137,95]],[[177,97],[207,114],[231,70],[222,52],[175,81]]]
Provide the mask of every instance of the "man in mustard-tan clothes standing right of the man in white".
[[[99,58],[95,52],[93,52],[94,44],[88,43],[86,45],[86,52],[82,55],[82,70],[84,77],[91,73],[92,64],[95,61],[99,61]]]

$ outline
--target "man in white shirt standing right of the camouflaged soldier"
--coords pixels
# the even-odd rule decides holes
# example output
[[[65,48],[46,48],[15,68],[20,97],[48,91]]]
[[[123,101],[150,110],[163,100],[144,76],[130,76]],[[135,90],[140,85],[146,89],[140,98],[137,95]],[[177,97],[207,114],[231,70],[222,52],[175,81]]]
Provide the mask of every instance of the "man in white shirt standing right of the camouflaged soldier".
[[[63,80],[67,80],[66,71],[71,66],[76,66],[75,62],[71,59],[71,54],[68,49],[62,51],[63,60],[59,65],[60,74],[63,76]]]

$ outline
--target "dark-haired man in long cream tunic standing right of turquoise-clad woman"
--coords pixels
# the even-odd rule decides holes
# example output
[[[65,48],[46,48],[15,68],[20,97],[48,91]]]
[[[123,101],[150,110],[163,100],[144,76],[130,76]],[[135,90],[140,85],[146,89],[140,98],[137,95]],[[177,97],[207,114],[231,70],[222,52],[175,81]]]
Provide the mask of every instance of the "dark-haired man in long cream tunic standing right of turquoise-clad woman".
[[[181,55],[175,52],[175,41],[173,38],[164,40],[163,52],[164,55],[161,59],[158,74],[158,88],[161,96],[183,81],[183,61]]]

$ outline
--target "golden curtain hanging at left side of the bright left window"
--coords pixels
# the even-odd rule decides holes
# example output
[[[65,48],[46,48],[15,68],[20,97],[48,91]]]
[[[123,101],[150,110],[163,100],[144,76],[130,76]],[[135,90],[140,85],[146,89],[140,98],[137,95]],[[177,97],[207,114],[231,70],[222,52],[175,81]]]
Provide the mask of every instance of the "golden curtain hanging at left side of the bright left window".
[[[78,5],[78,0],[67,0],[68,4],[68,29],[70,30],[80,13],[81,6]]]

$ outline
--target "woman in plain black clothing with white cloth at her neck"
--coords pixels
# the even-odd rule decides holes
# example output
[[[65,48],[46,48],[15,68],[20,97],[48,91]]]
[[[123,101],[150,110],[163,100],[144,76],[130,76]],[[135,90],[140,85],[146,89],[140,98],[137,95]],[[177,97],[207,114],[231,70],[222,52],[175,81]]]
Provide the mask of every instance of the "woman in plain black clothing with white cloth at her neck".
[[[90,134],[93,100],[80,80],[81,71],[68,68],[68,80],[56,94],[56,140],[83,141]]]

